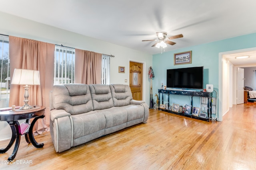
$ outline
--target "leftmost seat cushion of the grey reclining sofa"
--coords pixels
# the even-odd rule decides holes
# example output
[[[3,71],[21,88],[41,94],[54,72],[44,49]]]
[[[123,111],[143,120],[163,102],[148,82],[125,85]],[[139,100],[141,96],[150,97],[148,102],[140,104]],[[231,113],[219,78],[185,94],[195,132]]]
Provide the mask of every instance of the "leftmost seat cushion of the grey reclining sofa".
[[[80,115],[72,115],[73,139],[90,135],[106,127],[106,119],[103,113],[90,111]]]

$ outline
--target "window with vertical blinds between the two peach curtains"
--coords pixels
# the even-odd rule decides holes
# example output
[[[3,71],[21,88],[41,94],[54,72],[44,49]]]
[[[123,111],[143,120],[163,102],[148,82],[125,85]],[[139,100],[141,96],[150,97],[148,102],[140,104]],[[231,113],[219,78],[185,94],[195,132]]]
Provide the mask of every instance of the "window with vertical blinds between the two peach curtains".
[[[75,49],[55,46],[54,85],[74,83]]]

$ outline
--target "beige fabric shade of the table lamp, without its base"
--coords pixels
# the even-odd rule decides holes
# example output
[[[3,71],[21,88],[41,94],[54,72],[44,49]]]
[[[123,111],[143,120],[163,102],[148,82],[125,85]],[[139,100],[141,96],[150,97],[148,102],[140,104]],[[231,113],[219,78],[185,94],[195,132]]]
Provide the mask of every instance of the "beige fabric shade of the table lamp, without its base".
[[[12,84],[40,85],[38,70],[14,69]]]

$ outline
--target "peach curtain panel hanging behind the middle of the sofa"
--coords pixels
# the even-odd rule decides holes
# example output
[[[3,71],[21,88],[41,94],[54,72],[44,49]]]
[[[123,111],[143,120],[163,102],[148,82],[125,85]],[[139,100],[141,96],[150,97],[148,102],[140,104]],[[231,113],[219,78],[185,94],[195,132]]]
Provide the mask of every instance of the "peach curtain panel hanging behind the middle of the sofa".
[[[102,54],[76,49],[75,83],[101,84]]]

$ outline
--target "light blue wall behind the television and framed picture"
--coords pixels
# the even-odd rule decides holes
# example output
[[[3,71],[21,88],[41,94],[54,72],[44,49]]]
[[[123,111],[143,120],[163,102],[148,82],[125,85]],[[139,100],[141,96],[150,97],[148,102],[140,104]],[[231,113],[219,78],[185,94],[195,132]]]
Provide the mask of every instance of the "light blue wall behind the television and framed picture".
[[[184,35],[184,37],[186,36]],[[166,85],[167,69],[193,66],[204,66],[204,88],[206,87],[206,84],[213,84],[214,89],[218,91],[219,53],[252,47],[256,47],[256,33],[153,55],[152,68],[155,75],[152,79],[153,94],[158,94],[158,89],[160,89],[161,83]],[[166,48],[171,47],[168,46]],[[181,53],[185,51],[192,51],[192,63],[174,66],[174,53]],[[177,102],[181,105],[184,103],[182,101]]]

